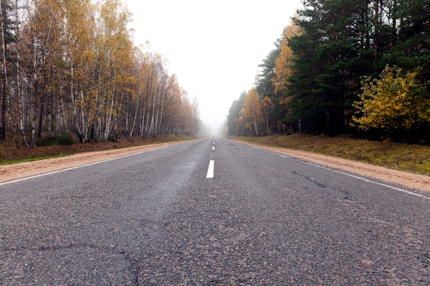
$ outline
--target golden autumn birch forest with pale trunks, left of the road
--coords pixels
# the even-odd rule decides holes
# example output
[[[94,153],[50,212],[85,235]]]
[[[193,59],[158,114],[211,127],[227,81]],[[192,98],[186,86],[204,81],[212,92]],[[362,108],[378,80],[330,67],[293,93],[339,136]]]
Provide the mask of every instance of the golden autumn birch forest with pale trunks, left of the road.
[[[120,0],[0,1],[1,140],[196,134],[196,102],[168,60],[133,45]]]

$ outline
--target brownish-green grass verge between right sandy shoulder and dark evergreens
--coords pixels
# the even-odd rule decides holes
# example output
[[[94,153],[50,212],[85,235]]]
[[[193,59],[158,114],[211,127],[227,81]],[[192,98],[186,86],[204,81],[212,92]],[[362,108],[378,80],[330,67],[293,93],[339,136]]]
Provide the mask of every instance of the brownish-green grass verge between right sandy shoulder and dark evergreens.
[[[430,147],[428,146],[302,134],[266,137],[240,136],[234,137],[234,139],[259,145],[284,147],[357,160],[415,174],[430,175]]]

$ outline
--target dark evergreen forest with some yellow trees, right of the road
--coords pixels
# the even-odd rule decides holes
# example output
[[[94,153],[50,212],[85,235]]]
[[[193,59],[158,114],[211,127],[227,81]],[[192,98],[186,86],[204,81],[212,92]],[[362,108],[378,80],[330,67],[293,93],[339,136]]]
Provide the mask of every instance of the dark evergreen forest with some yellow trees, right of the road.
[[[429,144],[430,1],[302,4],[231,104],[228,134]]]

